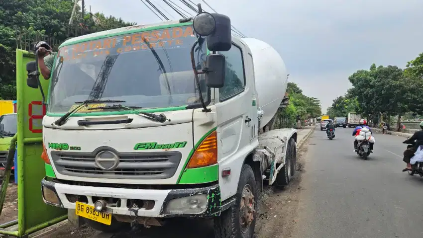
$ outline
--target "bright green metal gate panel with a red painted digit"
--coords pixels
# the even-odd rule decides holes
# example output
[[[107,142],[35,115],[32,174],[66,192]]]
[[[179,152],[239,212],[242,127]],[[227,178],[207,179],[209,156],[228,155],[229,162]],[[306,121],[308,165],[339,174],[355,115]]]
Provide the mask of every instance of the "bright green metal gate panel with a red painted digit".
[[[45,177],[45,165],[41,159],[42,118],[45,105],[39,88],[26,85],[26,64],[35,56],[27,51],[16,50],[17,90],[17,168],[18,168],[18,226],[19,235],[35,232],[43,227],[66,219],[65,209],[52,207],[43,202],[41,179]],[[47,96],[49,80],[40,76]]]

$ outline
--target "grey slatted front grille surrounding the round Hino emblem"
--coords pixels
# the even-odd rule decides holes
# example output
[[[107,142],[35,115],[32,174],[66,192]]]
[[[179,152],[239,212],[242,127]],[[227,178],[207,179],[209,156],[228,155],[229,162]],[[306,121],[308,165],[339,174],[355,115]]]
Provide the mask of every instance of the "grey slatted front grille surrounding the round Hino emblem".
[[[103,170],[96,155],[109,150],[119,157],[115,169]],[[180,152],[119,153],[101,147],[92,153],[52,151],[51,158],[59,173],[69,176],[122,179],[165,179],[172,177],[181,162]]]

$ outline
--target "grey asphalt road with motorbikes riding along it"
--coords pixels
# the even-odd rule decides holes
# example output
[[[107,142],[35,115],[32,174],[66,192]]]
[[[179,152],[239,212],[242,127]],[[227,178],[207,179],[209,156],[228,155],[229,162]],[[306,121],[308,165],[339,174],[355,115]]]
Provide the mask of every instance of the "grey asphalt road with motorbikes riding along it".
[[[352,129],[329,141],[318,128],[304,158],[294,238],[423,237],[423,178],[402,172],[404,137],[375,134],[368,160],[353,153]]]

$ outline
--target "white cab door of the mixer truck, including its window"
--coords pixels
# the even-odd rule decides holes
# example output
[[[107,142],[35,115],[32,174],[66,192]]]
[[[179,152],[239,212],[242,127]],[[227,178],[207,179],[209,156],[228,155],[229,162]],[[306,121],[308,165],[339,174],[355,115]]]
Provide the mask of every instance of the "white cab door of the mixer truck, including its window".
[[[229,51],[219,52],[226,57],[224,86],[216,90],[219,175],[231,169],[230,176],[219,178],[222,199],[236,191],[242,163],[258,144],[255,88],[247,83],[254,80],[252,58],[241,49],[232,44]]]

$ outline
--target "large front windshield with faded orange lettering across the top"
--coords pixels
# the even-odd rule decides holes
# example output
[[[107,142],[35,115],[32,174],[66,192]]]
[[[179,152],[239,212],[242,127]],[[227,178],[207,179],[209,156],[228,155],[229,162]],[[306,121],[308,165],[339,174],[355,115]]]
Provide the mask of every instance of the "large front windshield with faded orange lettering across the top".
[[[136,108],[200,103],[190,57],[195,41],[192,26],[182,26],[61,47],[47,110],[66,113],[75,102],[87,99],[122,100],[125,106]],[[197,69],[203,66],[206,54],[206,43],[200,42],[194,51]],[[200,84],[207,101],[202,77]]]

